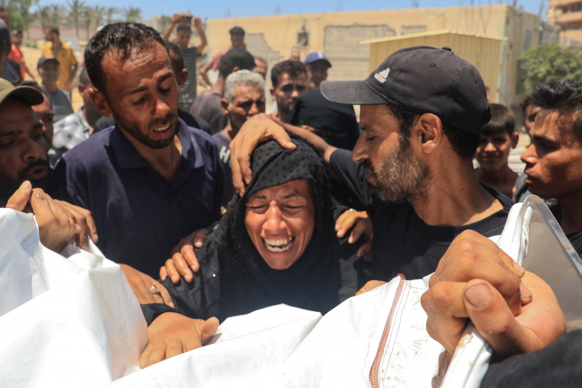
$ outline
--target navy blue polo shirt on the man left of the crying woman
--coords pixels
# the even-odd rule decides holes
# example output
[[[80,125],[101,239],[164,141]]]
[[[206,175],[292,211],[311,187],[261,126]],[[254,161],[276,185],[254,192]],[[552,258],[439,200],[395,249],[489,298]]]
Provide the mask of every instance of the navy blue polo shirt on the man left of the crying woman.
[[[222,162],[212,137],[179,119],[180,165],[171,182],[117,126],[70,149],[54,172],[55,198],[93,213],[98,247],[157,279],[172,248],[220,216]]]

